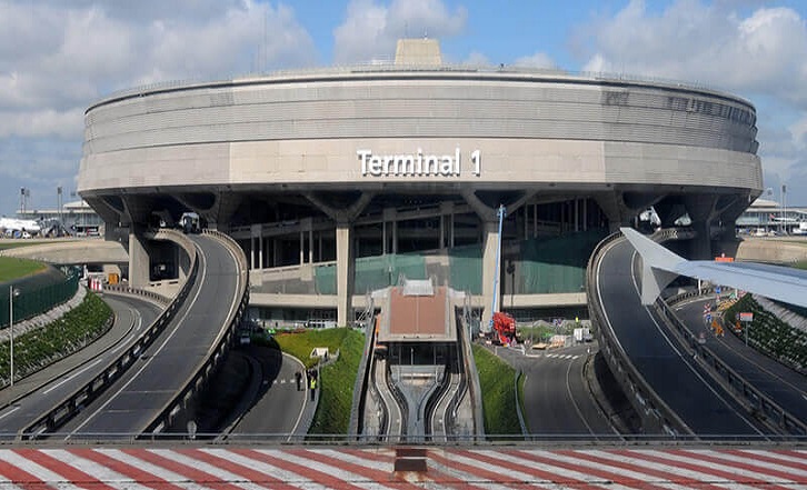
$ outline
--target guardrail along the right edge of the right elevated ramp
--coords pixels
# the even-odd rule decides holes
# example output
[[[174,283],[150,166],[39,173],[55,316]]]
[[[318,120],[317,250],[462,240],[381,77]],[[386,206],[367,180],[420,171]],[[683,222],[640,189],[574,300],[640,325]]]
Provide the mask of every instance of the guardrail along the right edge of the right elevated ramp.
[[[708,289],[706,291],[711,291]],[[708,293],[708,292],[707,292]],[[685,293],[675,297],[677,301],[683,301],[693,297],[703,296],[703,293]],[[672,303],[672,301],[670,301]],[[655,303],[656,311],[659,317],[675,331],[683,343],[690,352],[697,353],[698,359],[706,363],[707,369],[713,378],[717,378],[723,386],[734,394],[740,404],[745,402],[751,416],[764,418],[765,421],[773,420],[775,426],[787,433],[796,436],[807,436],[807,423],[797,417],[790,414],[781,408],[777,402],[768,396],[759,391],[754,384],[748,382],[741,374],[731,369],[711,349],[698,342],[697,336],[678,318],[669,304],[660,298]]]

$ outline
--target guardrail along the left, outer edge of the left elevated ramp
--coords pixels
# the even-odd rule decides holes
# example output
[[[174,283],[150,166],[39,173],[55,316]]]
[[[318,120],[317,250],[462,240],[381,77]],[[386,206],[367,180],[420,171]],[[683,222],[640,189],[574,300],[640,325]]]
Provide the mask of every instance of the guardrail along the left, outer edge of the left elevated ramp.
[[[153,240],[171,240],[178,242],[188,253],[191,263],[191,270],[185,284],[180,289],[177,297],[168,304],[162,313],[155,320],[151,326],[146,329],[143,334],[123,351],[114,360],[112,360],[99,374],[53,406],[49,411],[41,414],[33,422],[24,427],[17,434],[18,440],[36,439],[43,432],[52,432],[56,428],[61,427],[68,420],[72,419],[87,403],[98,398],[109,386],[112,384],[121,374],[134,363],[140,354],[162,333],[165,328],[173,319],[177,310],[183,303],[188,296],[190,287],[196,281],[199,269],[199,262],[196,254],[196,246],[183,234],[172,230],[160,230],[156,233],[146,233],[147,238]]]

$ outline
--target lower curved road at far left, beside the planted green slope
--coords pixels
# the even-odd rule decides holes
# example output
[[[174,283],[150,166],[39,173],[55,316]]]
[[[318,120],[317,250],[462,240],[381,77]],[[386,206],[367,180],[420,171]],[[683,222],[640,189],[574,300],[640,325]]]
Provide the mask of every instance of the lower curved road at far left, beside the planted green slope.
[[[41,413],[86,384],[136,341],[162,308],[138,297],[106,294],[113,309],[109,332],[87,348],[0,391],[0,433],[13,437]]]

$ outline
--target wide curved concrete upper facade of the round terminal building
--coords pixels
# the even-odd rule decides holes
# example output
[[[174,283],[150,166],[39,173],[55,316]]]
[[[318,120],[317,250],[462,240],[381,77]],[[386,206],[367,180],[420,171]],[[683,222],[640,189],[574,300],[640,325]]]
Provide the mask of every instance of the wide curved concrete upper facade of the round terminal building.
[[[755,124],[754,107],[723,92],[555,72],[362,67],[167,84],[88,109],[79,192],[518,182],[756,194]],[[431,156],[431,171],[395,160]]]

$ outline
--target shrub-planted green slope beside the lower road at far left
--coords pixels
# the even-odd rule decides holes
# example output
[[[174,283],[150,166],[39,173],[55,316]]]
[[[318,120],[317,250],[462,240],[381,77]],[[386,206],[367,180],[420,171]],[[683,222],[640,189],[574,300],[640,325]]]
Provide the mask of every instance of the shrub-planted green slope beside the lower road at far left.
[[[78,307],[42,328],[14,336],[14,379],[23,378],[67,357],[111,327],[112,309],[93,293]],[[0,378],[9,382],[9,342],[0,344]]]

